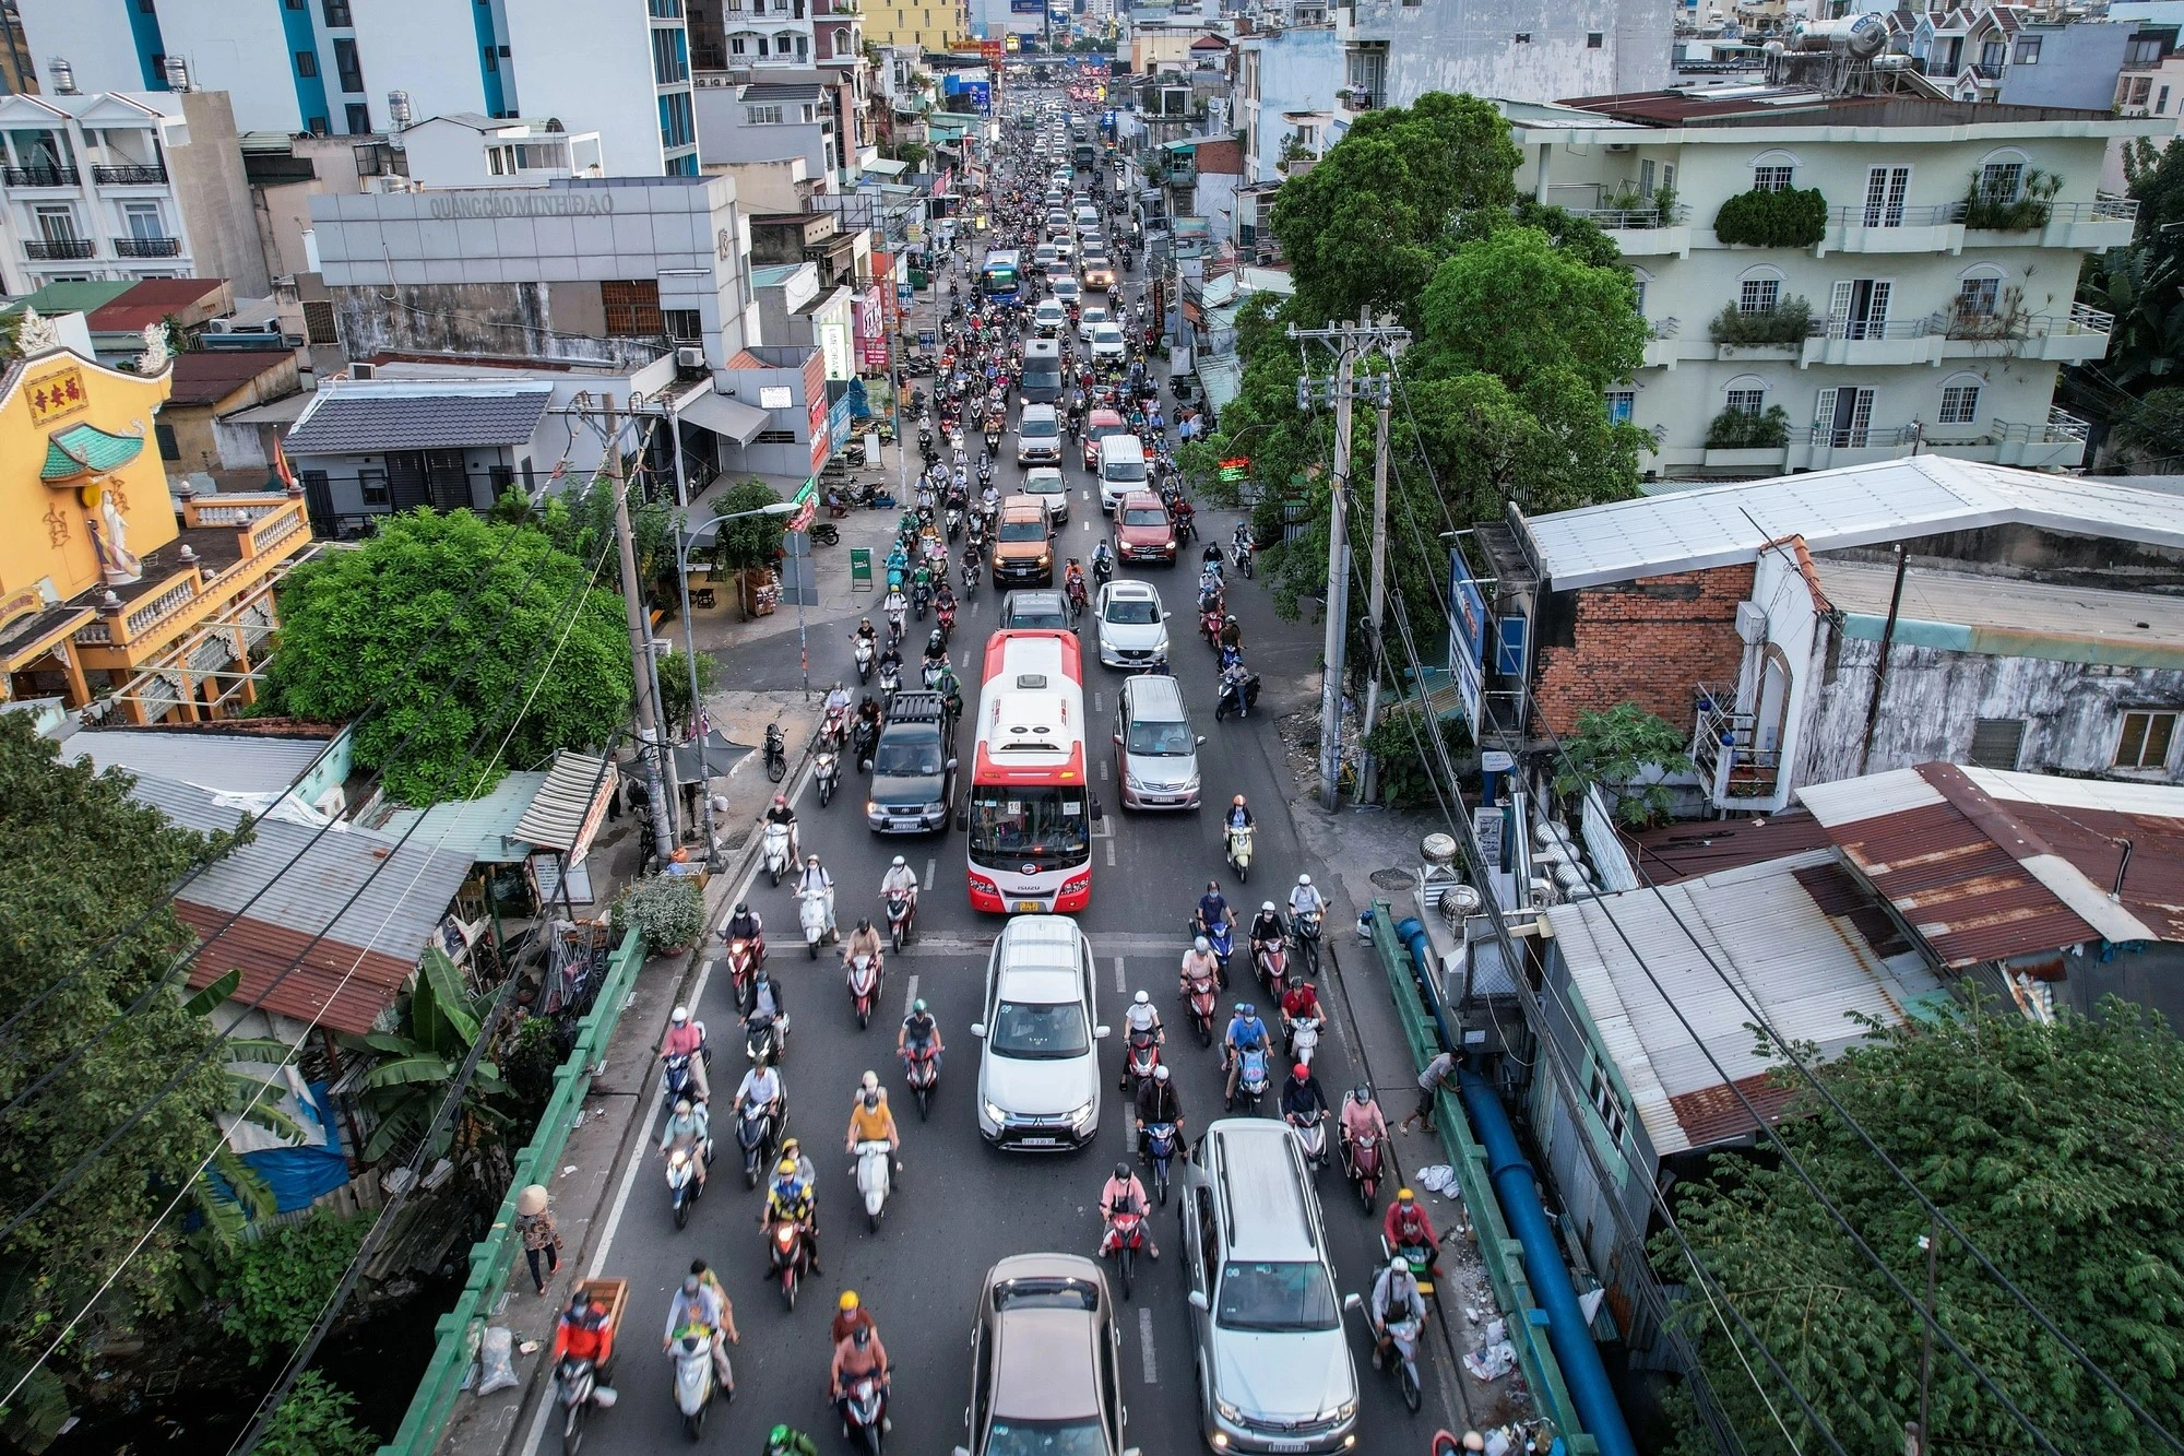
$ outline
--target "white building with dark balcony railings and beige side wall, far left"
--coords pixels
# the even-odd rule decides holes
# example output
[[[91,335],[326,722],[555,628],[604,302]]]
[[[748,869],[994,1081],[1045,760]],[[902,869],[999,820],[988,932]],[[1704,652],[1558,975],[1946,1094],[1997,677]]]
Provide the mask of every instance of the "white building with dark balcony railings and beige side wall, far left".
[[[140,278],[271,289],[227,96],[4,96],[0,153],[0,291]]]

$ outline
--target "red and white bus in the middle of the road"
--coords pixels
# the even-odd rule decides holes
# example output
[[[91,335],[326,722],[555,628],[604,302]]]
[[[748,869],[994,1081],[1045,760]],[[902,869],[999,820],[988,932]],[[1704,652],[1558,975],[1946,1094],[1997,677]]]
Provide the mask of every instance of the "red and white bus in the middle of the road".
[[[1077,634],[992,634],[970,774],[972,909],[1061,914],[1092,903],[1085,765]]]

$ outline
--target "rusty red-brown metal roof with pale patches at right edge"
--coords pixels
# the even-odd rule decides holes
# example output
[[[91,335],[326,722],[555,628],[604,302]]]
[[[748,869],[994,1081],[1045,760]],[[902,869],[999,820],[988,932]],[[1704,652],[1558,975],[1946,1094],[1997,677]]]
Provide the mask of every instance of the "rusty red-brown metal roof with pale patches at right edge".
[[[1948,966],[2184,940],[2184,789],[1922,763],[1797,798]]]

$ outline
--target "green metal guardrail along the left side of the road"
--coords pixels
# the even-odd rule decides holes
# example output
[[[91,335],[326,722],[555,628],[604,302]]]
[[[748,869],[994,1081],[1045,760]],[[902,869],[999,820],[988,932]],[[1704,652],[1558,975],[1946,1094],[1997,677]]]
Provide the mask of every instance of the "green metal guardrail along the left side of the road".
[[[432,1362],[424,1369],[424,1379],[417,1382],[417,1395],[411,1397],[402,1428],[393,1441],[378,1449],[378,1456],[428,1456],[446,1434],[454,1397],[461,1393],[474,1360],[470,1325],[491,1310],[500,1281],[515,1261],[515,1194],[531,1183],[553,1183],[550,1174],[561,1159],[561,1146],[592,1089],[592,1067],[607,1054],[607,1041],[622,1019],[622,1003],[629,999],[629,988],[642,966],[644,947],[638,942],[638,934],[629,931],[607,958],[607,975],[592,999],[592,1014],[577,1023],[577,1045],[570,1047],[568,1060],[555,1067],[553,1097],[546,1100],[531,1143],[515,1154],[515,1176],[500,1200],[500,1213],[494,1216],[491,1233],[470,1246],[470,1279],[463,1283],[463,1294],[454,1301],[454,1310],[439,1316],[432,1327],[437,1340]],[[544,1170],[546,1176],[537,1176],[537,1170]]]

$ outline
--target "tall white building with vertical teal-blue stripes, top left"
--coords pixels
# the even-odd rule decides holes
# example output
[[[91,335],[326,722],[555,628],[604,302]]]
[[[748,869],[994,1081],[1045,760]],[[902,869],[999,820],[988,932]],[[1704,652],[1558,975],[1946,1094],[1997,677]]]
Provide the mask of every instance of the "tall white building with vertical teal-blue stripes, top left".
[[[242,131],[371,133],[415,116],[557,118],[614,175],[697,175],[684,0],[17,0],[41,74],[96,90],[188,83]],[[450,28],[452,26],[452,28]]]

